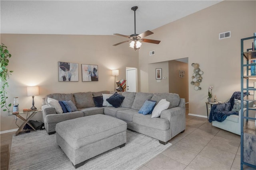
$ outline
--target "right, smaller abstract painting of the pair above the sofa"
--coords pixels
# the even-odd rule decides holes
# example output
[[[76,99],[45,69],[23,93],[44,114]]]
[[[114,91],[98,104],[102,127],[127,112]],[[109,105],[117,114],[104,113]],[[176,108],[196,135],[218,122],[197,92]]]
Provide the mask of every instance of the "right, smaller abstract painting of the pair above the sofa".
[[[82,82],[98,81],[98,65],[82,64]]]

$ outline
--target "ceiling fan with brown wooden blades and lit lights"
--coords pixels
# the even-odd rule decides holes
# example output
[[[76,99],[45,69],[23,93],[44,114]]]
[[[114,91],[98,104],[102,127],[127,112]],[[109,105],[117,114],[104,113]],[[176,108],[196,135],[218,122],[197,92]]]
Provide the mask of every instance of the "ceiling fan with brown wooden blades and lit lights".
[[[130,47],[134,48],[134,50],[136,50],[136,49],[140,49],[140,46],[142,45],[141,42],[154,43],[154,44],[159,44],[160,43],[160,41],[158,41],[158,40],[145,39],[144,38],[148,35],[153,34],[152,31],[148,30],[148,31],[145,31],[144,33],[136,34],[136,16],[135,16],[135,13],[136,13],[137,9],[138,9],[138,6],[132,7],[132,10],[134,11],[134,34],[132,34],[130,36],[129,35],[122,35],[122,34],[118,34],[118,33],[114,34],[114,35],[119,35],[119,36],[122,36],[122,37],[129,38],[129,40],[114,44],[113,46],[116,46],[116,45],[119,45],[119,44],[122,44],[122,43],[126,43],[126,42],[130,42]]]

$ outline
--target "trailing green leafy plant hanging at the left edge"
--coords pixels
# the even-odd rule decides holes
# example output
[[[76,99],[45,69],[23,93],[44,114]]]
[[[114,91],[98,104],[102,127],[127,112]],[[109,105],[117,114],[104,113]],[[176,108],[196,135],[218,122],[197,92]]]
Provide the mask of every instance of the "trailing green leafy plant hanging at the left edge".
[[[7,80],[9,79],[9,76],[11,75],[11,73],[13,72],[12,70],[8,70],[7,66],[9,64],[9,59],[10,57],[12,57],[12,55],[9,53],[9,51],[7,50],[7,47],[1,43],[0,45],[0,77],[1,77],[1,90],[0,90],[0,97],[1,97],[1,109],[2,107],[5,107],[5,109],[3,109],[3,111],[10,111],[10,107],[12,106],[12,104],[7,104],[6,100],[8,99],[8,97],[6,96],[7,91],[6,88],[9,87],[9,84],[7,82]]]

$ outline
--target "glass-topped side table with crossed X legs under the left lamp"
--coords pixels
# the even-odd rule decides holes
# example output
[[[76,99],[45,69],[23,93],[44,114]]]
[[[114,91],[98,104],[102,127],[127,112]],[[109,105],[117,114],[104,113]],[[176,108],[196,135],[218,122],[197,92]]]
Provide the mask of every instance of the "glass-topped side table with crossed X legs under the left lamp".
[[[34,131],[36,131],[36,129],[33,127],[33,125],[31,125],[28,121],[29,121],[37,112],[40,112],[40,111],[42,111],[42,110],[41,110],[41,109],[39,109],[39,110],[31,110],[31,111],[22,111],[22,110],[21,110],[19,113],[13,114],[13,113],[12,113],[12,110],[10,110],[8,115],[16,115],[17,117],[19,117],[21,120],[24,121],[24,122],[22,123],[22,125],[19,127],[19,129],[16,131],[15,136],[17,136],[19,133],[22,132],[22,129],[23,129],[23,127],[24,127],[26,124],[28,124]],[[28,114],[28,113],[30,113],[30,116],[27,115],[27,116],[28,116],[27,119],[25,119],[24,117],[21,116],[22,114]]]

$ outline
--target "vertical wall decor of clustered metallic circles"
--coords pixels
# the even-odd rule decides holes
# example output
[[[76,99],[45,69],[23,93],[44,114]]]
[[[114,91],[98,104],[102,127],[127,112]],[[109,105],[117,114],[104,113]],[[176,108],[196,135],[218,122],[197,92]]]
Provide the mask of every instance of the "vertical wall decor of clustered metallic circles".
[[[204,74],[204,72],[200,70],[198,63],[192,63],[191,65],[194,67],[194,73],[192,75],[192,82],[190,82],[190,84],[194,85],[195,90],[201,90],[199,86],[202,82],[202,74]]]

